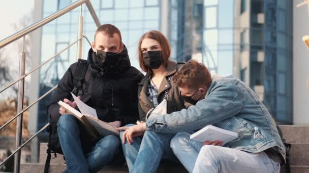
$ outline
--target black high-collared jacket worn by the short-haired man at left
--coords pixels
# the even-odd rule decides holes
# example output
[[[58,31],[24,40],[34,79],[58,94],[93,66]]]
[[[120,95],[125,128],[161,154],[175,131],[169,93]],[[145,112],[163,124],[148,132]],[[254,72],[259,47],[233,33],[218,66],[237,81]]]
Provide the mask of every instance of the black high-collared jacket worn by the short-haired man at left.
[[[96,109],[99,119],[106,122],[119,120],[123,126],[139,119],[138,82],[144,75],[131,66],[126,47],[120,54],[123,58],[114,67],[102,69],[98,66],[96,53],[90,48],[81,101]],[[65,98],[72,101],[70,92],[73,90],[76,67],[77,63],[74,63],[66,71],[47,107],[51,122],[57,122],[60,116],[57,102]]]

